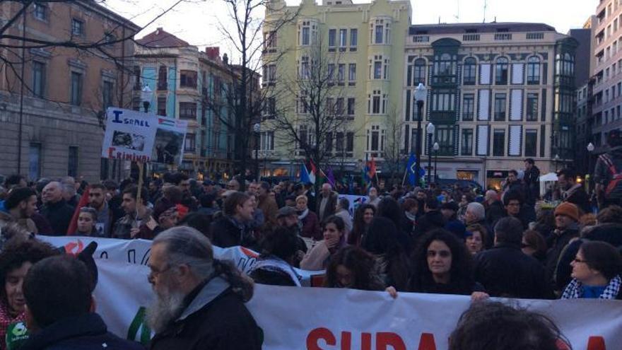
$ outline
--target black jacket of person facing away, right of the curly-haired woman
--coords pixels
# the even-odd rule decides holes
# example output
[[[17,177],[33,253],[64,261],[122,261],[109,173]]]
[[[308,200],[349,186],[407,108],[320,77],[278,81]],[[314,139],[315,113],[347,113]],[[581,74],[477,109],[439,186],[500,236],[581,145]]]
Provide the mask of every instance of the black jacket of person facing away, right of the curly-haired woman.
[[[520,247],[499,244],[476,256],[475,280],[490,296],[552,298],[544,267]]]

